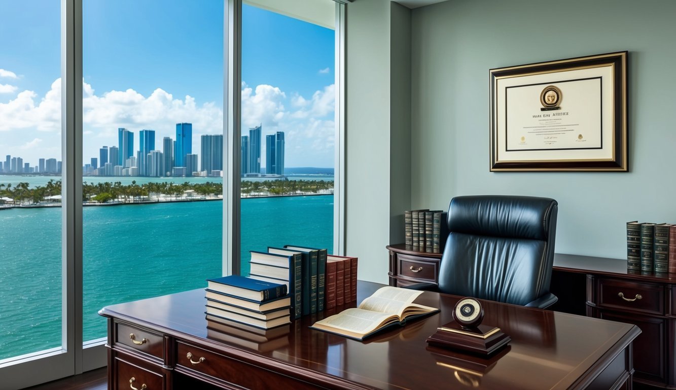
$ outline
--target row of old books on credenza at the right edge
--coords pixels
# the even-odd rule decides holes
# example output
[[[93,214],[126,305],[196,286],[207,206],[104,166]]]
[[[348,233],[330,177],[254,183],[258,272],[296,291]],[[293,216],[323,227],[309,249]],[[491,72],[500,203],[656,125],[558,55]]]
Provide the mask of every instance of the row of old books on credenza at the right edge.
[[[676,273],[676,225],[627,222],[627,269]]]

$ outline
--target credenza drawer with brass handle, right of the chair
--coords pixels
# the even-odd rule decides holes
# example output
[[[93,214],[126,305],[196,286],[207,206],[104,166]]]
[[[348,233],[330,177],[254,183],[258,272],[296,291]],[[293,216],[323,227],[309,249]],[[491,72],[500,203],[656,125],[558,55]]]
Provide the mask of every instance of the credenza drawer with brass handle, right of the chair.
[[[598,306],[664,314],[665,290],[659,284],[598,280]]]

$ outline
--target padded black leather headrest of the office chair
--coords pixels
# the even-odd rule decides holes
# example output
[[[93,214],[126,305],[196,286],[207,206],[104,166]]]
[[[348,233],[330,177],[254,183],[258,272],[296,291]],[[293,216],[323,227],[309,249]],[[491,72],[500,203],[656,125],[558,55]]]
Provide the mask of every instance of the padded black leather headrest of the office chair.
[[[448,207],[448,230],[480,236],[548,240],[558,203],[536,196],[456,196]]]

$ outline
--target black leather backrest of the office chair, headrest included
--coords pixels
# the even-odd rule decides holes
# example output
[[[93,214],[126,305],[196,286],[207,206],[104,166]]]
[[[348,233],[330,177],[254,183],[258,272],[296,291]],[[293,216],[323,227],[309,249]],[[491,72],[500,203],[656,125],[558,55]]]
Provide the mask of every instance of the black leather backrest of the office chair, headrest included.
[[[550,198],[453,198],[439,290],[515,305],[548,294],[557,212]]]

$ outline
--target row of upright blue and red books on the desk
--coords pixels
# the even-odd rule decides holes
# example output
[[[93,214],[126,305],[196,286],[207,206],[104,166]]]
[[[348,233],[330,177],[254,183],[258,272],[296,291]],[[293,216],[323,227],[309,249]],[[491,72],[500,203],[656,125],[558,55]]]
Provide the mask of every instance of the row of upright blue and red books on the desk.
[[[357,299],[357,257],[329,255],[326,248],[268,246],[250,251],[249,278],[287,286],[293,318]]]

